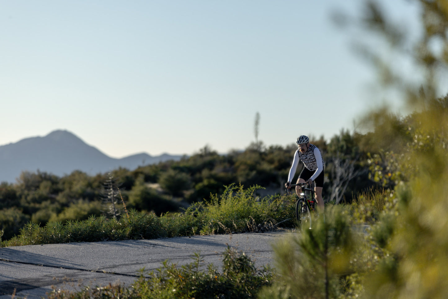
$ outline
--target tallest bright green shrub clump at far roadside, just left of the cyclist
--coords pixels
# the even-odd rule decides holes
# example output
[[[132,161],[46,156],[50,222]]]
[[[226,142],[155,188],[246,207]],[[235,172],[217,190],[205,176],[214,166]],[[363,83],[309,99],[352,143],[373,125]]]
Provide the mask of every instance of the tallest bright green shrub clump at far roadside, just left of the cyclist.
[[[271,196],[256,199],[260,186],[244,189],[242,185],[227,186],[222,195],[190,205],[183,213],[164,215],[162,221],[168,236],[193,234],[228,234],[272,230],[279,222],[293,225],[293,197]]]

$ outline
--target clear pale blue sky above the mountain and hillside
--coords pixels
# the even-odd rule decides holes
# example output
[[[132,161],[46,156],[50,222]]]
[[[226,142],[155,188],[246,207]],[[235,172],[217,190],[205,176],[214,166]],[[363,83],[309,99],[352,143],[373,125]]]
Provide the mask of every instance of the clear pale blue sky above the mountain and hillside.
[[[353,130],[373,71],[330,14],[359,2],[0,0],[0,145],[64,129],[113,157],[225,153],[257,112],[267,145]]]

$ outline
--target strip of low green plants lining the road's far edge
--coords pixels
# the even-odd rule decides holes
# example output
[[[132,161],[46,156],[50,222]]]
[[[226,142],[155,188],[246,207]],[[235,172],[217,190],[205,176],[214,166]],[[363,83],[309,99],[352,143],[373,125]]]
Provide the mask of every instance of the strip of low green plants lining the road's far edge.
[[[119,219],[89,217],[83,221],[48,222],[43,227],[29,222],[18,236],[1,242],[1,246],[261,232],[274,230],[279,223],[292,227],[293,199],[285,200],[280,195],[257,199],[254,191],[259,188],[230,185],[208,202],[161,217],[131,210]]]

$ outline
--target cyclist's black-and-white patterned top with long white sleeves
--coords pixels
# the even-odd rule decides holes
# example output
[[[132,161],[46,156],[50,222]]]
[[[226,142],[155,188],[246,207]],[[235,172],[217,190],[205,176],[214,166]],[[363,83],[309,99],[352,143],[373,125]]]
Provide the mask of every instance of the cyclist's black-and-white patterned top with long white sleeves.
[[[310,147],[306,153],[302,154],[299,150],[297,150],[294,154],[293,165],[291,166],[291,169],[289,169],[288,182],[292,182],[300,160],[302,160],[308,170],[314,171],[310,178],[312,181],[319,176],[325,166],[325,162],[322,159],[319,148],[317,148],[314,144],[310,144]]]

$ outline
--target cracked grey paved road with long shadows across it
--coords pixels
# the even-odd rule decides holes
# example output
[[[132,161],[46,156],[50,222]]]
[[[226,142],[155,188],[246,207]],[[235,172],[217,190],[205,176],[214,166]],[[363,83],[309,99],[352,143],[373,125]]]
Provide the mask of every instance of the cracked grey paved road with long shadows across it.
[[[244,251],[257,267],[273,264],[271,244],[284,232],[233,234],[95,243],[30,245],[0,248],[0,299],[16,295],[29,299],[56,289],[79,285],[129,286],[139,270],[157,269],[164,260],[187,264],[200,252],[205,264],[220,266],[227,245]]]

